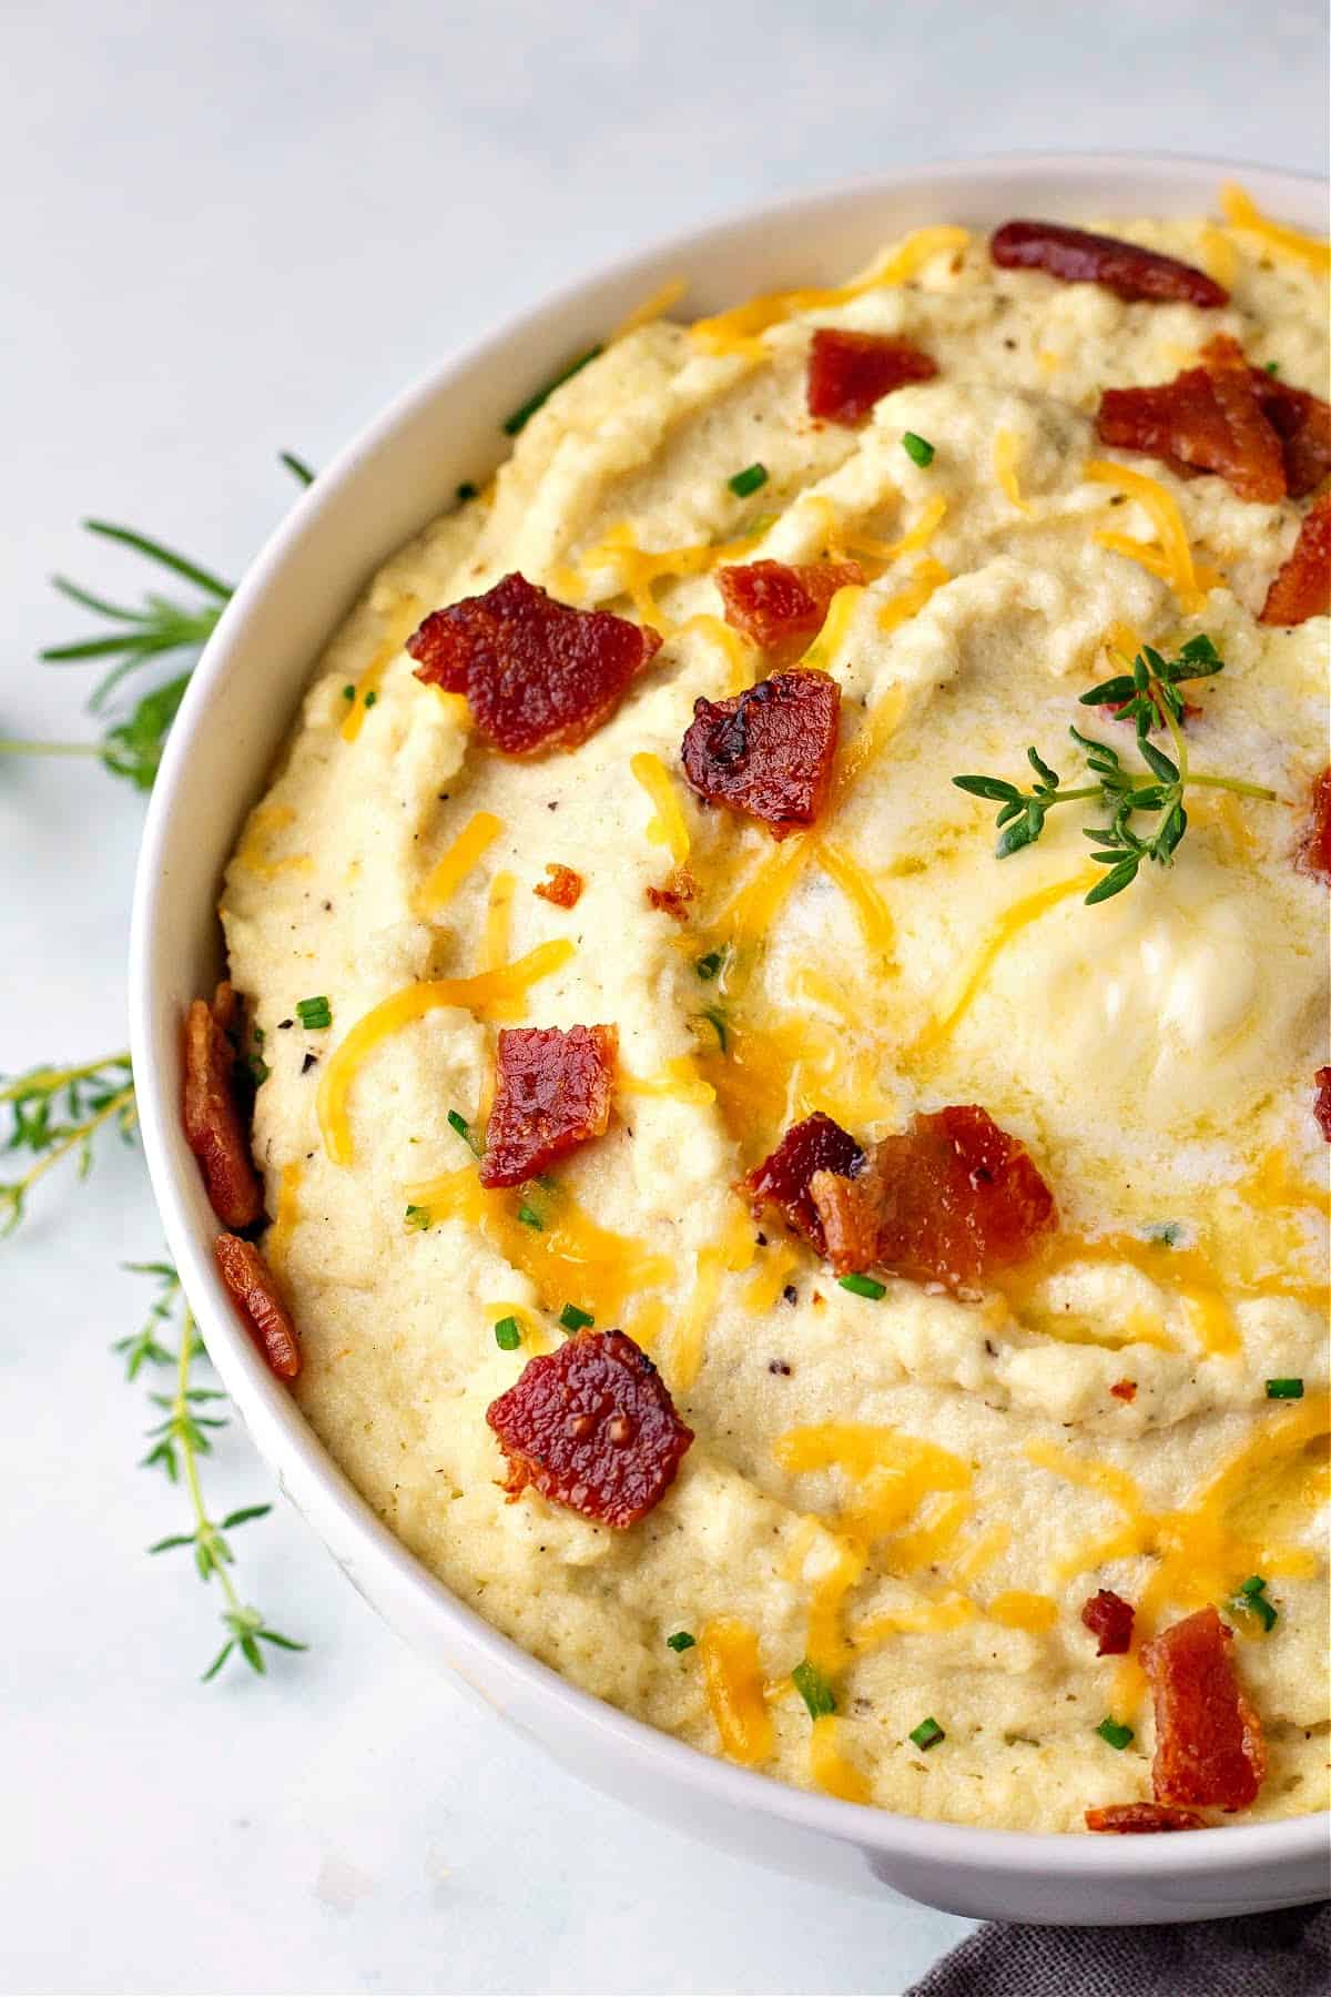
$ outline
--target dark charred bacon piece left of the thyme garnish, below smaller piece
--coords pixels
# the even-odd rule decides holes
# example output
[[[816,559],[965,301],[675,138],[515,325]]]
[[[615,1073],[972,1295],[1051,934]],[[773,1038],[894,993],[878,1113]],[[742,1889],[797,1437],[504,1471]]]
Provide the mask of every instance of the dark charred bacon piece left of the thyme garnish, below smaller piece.
[[[700,797],[760,819],[772,839],[816,821],[840,715],[828,673],[772,673],[728,701],[698,699],[692,713],[680,755]]]

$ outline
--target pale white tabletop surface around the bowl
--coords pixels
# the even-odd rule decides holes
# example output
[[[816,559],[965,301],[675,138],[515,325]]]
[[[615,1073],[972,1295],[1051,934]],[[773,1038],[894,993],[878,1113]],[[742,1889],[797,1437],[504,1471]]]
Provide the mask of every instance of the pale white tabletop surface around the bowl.
[[[441,349],[583,266],[776,190],[960,152],[1317,170],[1321,6],[10,0],[0,76],[0,733],[86,727],[44,575],[138,587],[102,511],[239,571],[287,491]],[[140,803],[0,767],[0,1062],[122,1044]],[[601,1803],[407,1656],[299,1520],[243,1586],[309,1638],[200,1687],[216,1606],[142,1548],[112,1338],[160,1250],[106,1150],[0,1248],[0,1987],[900,1991],[968,1923],[778,1881]],[[265,1496],[243,1438],[218,1506]],[[176,1556],[180,1558],[180,1556]]]

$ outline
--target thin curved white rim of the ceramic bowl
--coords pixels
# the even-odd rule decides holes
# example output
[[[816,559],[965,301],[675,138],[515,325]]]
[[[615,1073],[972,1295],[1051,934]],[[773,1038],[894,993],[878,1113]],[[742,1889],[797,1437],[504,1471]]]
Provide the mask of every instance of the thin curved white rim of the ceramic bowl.
[[[726,238],[768,230],[782,222],[802,224],[822,214],[836,214],[848,204],[890,200],[912,188],[948,190],[958,198],[990,182],[1020,176],[1046,176],[1058,182],[1060,202],[1076,196],[1084,180],[1157,174],[1163,182],[1205,180],[1211,188],[1225,178],[1241,176],[1257,204],[1275,214],[1303,210],[1313,190],[1327,182],[1317,174],[1267,168],[1197,154],[1173,152],[1046,152],[1014,150],[998,154],[954,156],[922,162],[910,168],[866,174],[854,180],[816,188],[810,194],[782,196],[774,202],[736,206],[698,228],[672,232],[651,240],[629,254],[601,260],[591,270],[545,294],[533,306],[507,314],[477,337],[447,351],[411,385],[399,391],[357,435],[333,457],[327,471],[299,495],[295,505],[267,537],[245,569],[239,587],[223,609],[190,681],[190,689],[172,729],[168,749],[154,785],[144,825],[144,837],[134,885],[130,923],[130,1046],[138,1088],[140,1128],[150,1180],[160,1206],[162,1224],[190,1298],[200,1330],[249,1436],[275,1472],[277,1486],[301,1514],[305,1506],[323,1508],[339,1526],[339,1540],[355,1544],[379,1574],[381,1590],[371,1594],[373,1606],[393,1600],[403,1618],[435,1622],[469,1656],[461,1675],[473,1689],[495,1701],[493,1691],[471,1677],[471,1669],[491,1669],[499,1679],[529,1687],[541,1705],[555,1707],[571,1727],[613,1747],[615,1755],[655,1767],[678,1787],[696,1787],[712,1799],[742,1813],[776,1815],[822,1831],[832,1839],[860,1849],[932,1857],[940,1867],[972,1867],[992,1877],[1030,1875],[1040,1871],[1054,1881],[1098,1881],[1102,1885],[1131,1885],[1143,1871],[1169,1877],[1179,1885],[1189,1879],[1211,1881],[1229,1873],[1245,1873],[1255,1865],[1283,1869],[1307,1863],[1327,1845],[1327,1811],[1301,1817],[1271,1819],[1233,1827],[1193,1831],[1167,1839],[1161,1851],[1153,1841],[1145,1847],[1135,1837],[1094,1837],[1070,1831],[1020,1831],[950,1823],[936,1817],[912,1817],[866,1803],[848,1803],[820,1791],[800,1789],[772,1775],[736,1767],[716,1755],[690,1747],[621,1711],[605,1699],[583,1691],[561,1677],[551,1665],[503,1636],[475,1610],[467,1608],[437,1580],[379,1520],[369,1502],[355,1490],[333,1456],[305,1422],[289,1390],[277,1382],[253,1350],[239,1326],[216,1274],[210,1242],[202,1238],[192,1212],[190,1184],[194,1160],[188,1166],[178,1142],[176,1062],[160,1058],[160,1020],[154,1012],[158,987],[156,939],[164,903],[170,895],[168,867],[176,823],[182,819],[184,787],[192,751],[212,721],[212,699],[225,677],[231,655],[243,645],[245,627],[267,593],[275,587],[295,549],[317,535],[319,521],[331,501],[355,485],[365,465],[391,447],[435,399],[461,387],[473,369],[485,367],[519,337],[539,330],[559,312],[575,308],[611,282],[631,284],[657,276],[661,266],[686,270],[688,258],[716,248]],[[1054,204],[1050,204],[1054,206]],[[936,220],[924,216],[922,220]],[[503,455],[503,453],[499,453]],[[331,627],[335,629],[335,625]],[[329,633],[331,635],[331,633]],[[293,703],[295,709],[295,703]],[[261,775],[261,773],[259,773]],[[257,779],[255,779],[257,783]],[[166,1080],[170,1076],[170,1086]],[[188,1156],[188,1154],[186,1154]],[[309,1520],[329,1542],[323,1524]],[[329,1542],[331,1544],[331,1542]],[[353,1562],[333,1552],[353,1586],[361,1588]],[[461,1665],[455,1665],[461,1671]],[[1219,1909],[1213,1909],[1219,1911]]]

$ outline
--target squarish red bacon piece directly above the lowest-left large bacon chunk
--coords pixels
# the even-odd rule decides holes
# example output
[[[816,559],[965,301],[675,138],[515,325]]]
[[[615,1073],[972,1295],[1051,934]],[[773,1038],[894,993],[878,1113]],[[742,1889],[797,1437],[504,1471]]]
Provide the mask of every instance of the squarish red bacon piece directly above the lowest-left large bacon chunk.
[[[495,1106],[485,1126],[483,1186],[521,1186],[611,1120],[615,1026],[505,1026]]]

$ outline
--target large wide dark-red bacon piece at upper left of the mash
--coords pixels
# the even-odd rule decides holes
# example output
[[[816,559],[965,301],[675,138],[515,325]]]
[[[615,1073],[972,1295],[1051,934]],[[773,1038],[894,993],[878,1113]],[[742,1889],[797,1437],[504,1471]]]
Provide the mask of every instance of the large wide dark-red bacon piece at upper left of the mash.
[[[465,693],[477,731],[505,755],[577,749],[611,719],[659,645],[659,631],[573,609],[525,575],[431,611],[407,639],[415,677]]]

